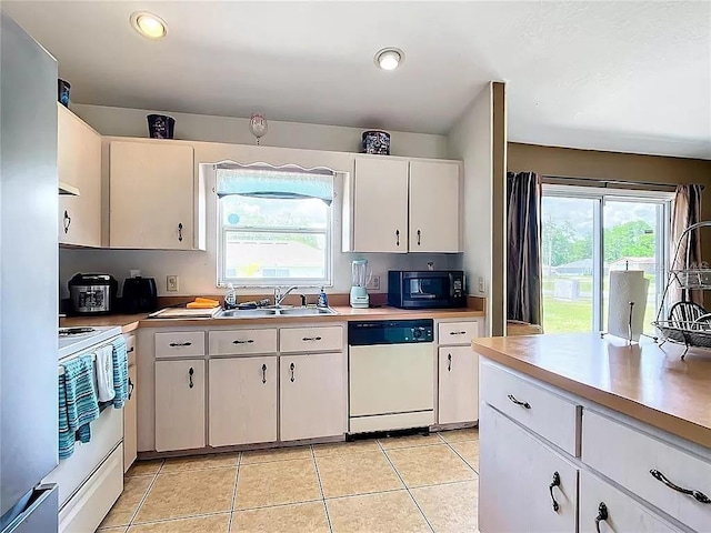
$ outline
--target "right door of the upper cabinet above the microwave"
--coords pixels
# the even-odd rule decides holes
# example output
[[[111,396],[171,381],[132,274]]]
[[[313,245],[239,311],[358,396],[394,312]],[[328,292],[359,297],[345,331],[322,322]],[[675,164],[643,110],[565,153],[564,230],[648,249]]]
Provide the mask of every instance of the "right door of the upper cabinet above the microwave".
[[[460,252],[460,175],[452,162],[410,161],[411,252]]]

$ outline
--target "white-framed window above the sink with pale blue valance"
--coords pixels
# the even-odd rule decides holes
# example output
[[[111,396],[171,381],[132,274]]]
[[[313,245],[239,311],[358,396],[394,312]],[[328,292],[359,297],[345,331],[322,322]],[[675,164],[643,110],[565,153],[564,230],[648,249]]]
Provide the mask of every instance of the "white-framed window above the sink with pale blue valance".
[[[218,285],[330,285],[333,172],[216,167]]]

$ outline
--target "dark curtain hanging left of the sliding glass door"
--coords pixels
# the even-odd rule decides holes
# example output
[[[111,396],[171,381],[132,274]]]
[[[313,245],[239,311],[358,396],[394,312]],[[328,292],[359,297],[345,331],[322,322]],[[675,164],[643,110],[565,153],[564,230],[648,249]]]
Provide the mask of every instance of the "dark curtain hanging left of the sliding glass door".
[[[508,320],[540,324],[541,180],[534,172],[508,172]]]

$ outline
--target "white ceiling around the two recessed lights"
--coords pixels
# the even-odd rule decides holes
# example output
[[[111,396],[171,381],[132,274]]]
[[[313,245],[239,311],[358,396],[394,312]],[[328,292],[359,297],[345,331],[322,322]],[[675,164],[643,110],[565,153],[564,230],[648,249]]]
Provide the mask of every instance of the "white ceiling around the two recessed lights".
[[[3,1],[81,103],[447,133],[489,80],[509,140],[711,159],[711,2]],[[151,42],[129,26],[149,10]],[[373,64],[394,46],[394,72]]]

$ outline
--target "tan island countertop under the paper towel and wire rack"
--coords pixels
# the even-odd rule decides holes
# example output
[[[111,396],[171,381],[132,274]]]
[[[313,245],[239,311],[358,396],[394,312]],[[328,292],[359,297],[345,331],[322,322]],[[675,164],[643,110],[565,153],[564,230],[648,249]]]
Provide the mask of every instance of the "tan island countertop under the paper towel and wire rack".
[[[711,447],[711,358],[599,333],[481,338],[481,355],[564,391]]]

